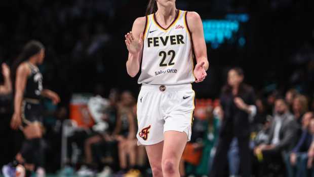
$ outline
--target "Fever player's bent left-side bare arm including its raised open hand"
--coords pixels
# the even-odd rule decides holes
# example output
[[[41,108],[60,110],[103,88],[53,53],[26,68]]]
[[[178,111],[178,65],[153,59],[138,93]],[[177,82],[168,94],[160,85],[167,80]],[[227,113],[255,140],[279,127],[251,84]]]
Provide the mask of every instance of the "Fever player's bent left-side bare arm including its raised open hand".
[[[127,72],[131,77],[135,77],[140,69],[145,22],[146,17],[137,18],[133,23],[132,32],[127,33],[125,36],[126,46],[129,51]]]

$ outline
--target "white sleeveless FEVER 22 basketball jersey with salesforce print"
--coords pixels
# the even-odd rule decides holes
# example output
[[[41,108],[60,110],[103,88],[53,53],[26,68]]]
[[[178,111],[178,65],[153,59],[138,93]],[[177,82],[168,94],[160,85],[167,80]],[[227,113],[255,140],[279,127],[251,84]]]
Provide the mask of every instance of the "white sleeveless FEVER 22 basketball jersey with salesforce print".
[[[178,10],[166,29],[158,24],[155,14],[146,16],[139,84],[176,85],[195,81],[186,13]]]

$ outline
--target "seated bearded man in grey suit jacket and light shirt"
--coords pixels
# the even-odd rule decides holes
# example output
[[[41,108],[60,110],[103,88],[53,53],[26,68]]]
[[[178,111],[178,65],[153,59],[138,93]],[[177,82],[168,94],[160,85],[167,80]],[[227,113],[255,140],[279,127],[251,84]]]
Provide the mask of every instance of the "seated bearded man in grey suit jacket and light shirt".
[[[295,146],[298,128],[293,115],[289,112],[288,104],[284,99],[277,99],[274,118],[270,125],[269,139],[266,144],[261,144],[254,149],[254,154],[261,162],[259,167],[261,176],[265,176],[269,170],[272,170],[269,167],[273,164],[277,166],[277,171],[274,172],[282,173],[282,155],[291,151]]]

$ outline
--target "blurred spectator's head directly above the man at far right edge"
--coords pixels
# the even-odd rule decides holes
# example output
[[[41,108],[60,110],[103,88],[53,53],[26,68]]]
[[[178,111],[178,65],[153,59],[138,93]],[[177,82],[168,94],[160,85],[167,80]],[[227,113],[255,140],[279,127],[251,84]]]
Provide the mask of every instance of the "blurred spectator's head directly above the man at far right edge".
[[[308,110],[307,98],[304,95],[297,95],[293,99],[292,110],[295,117],[295,120],[301,125],[302,116]]]

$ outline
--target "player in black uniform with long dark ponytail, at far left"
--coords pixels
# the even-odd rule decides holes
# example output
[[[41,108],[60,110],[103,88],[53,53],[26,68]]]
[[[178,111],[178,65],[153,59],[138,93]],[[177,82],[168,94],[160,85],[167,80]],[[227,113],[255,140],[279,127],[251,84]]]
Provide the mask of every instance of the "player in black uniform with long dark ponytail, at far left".
[[[38,41],[28,42],[13,66],[12,78],[15,80],[14,114],[11,120],[13,129],[21,129],[25,135],[20,153],[15,163],[23,164],[26,171],[37,169],[37,176],[44,176],[42,146],[42,106],[41,97],[52,99],[54,104],[60,101],[58,94],[43,89],[43,76],[37,67],[45,57],[45,47]],[[40,169],[40,170],[38,170]],[[3,168],[5,177],[15,176],[14,164]],[[27,173],[26,173],[27,174]]]

